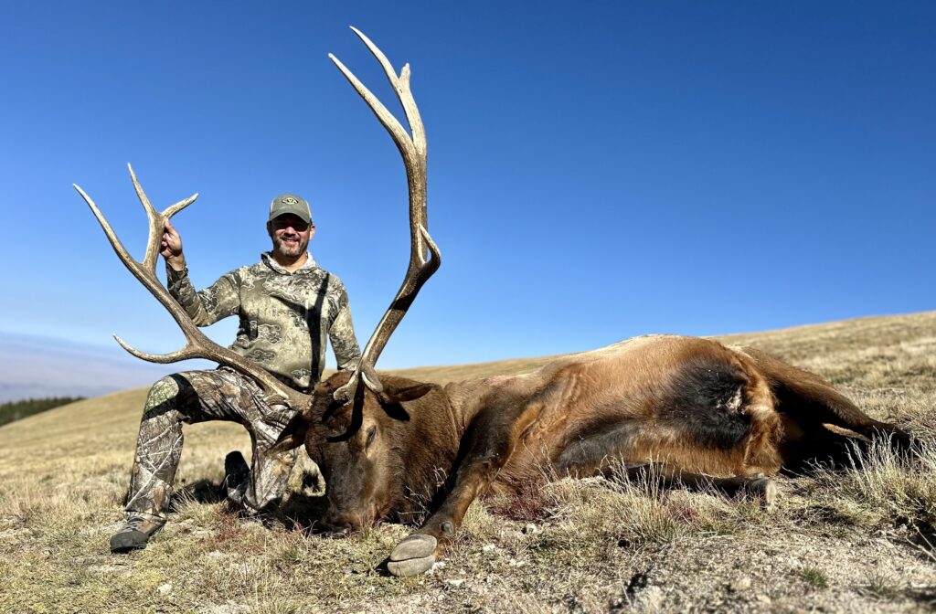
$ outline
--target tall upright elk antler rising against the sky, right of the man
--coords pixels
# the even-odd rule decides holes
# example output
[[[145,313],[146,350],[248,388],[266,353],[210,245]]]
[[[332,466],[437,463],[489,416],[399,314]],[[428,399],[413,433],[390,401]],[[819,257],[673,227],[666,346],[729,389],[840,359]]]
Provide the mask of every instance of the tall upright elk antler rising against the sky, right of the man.
[[[329,58],[338,66],[338,69],[344,73],[345,79],[354,86],[364,102],[373,110],[381,124],[387,128],[393,142],[397,144],[397,149],[403,158],[403,166],[406,168],[406,182],[409,186],[410,203],[410,261],[406,269],[406,276],[396,297],[390,302],[390,306],[384,317],[381,318],[377,328],[373,331],[370,341],[364,347],[358,368],[352,373],[348,383],[335,390],[334,397],[338,400],[349,401],[358,387],[358,380],[363,379],[364,384],[370,387],[374,392],[380,392],[383,388],[373,371],[373,365],[383,351],[384,346],[393,334],[393,331],[400,324],[403,315],[413,304],[416,295],[423,284],[431,277],[432,273],[438,270],[442,263],[442,256],[439,254],[439,248],[436,247],[432,238],[429,236],[428,222],[426,220],[426,132],[422,126],[422,118],[419,117],[419,110],[416,106],[416,100],[413,99],[413,93],[410,92],[410,68],[409,65],[403,66],[400,76],[384,55],[377,49],[371,39],[365,37],[357,28],[351,28],[354,33],[364,41],[367,48],[371,50],[373,56],[384,67],[387,78],[393,90],[400,98],[403,111],[406,113],[406,121],[410,125],[413,133],[412,138],[406,133],[406,130],[397,121],[387,108],[377,100],[376,96],[371,94],[363,83],[358,80],[354,74],[342,64],[338,58],[329,53]],[[428,251],[428,254],[427,254]],[[431,257],[429,257],[431,256]]]

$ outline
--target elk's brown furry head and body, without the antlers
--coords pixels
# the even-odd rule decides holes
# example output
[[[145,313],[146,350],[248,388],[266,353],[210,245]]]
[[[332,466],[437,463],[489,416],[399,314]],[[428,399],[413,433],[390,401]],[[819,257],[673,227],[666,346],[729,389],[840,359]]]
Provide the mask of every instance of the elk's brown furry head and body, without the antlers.
[[[691,337],[639,337],[534,373],[445,387],[384,375],[381,398],[360,387],[357,405],[332,401],[347,378],[320,384],[285,434],[286,446],[304,441],[325,474],[325,524],[428,514],[417,535],[440,547],[490,489],[656,463],[682,483],[709,476],[730,490],[830,454],[840,435],[825,424],[909,442],[812,373]]]

